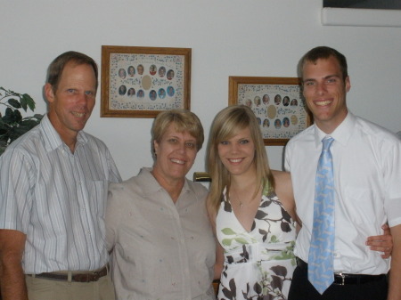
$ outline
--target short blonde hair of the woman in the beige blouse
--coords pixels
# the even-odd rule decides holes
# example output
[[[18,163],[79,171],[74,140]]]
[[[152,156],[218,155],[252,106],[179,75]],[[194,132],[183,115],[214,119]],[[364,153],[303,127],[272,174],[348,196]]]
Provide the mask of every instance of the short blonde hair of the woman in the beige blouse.
[[[154,153],[154,141],[161,142],[163,135],[166,133],[168,126],[173,124],[179,133],[187,132],[196,140],[197,150],[201,150],[204,134],[201,120],[191,111],[185,109],[170,109],[160,112],[155,118],[151,127],[151,147]]]

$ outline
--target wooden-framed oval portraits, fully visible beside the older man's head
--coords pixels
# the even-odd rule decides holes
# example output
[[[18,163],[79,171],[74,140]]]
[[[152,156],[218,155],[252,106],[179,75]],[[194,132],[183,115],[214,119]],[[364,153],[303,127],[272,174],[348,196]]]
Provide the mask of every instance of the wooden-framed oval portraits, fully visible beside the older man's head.
[[[102,45],[101,117],[191,109],[191,48]]]

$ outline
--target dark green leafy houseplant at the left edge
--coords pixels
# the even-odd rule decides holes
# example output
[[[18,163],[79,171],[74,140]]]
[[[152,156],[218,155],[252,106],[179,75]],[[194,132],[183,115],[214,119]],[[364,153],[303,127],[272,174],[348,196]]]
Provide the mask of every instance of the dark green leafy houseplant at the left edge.
[[[35,101],[28,93],[16,93],[0,87],[0,155],[5,148],[40,123],[43,115],[22,118],[20,109],[35,110]]]

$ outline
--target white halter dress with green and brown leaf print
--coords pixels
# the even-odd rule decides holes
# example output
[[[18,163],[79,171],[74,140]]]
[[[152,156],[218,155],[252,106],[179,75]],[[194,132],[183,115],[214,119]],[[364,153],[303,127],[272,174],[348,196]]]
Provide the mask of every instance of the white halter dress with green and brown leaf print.
[[[217,239],[225,249],[217,299],[287,299],[296,265],[295,238],[291,216],[268,186],[250,232],[225,196],[217,214]]]

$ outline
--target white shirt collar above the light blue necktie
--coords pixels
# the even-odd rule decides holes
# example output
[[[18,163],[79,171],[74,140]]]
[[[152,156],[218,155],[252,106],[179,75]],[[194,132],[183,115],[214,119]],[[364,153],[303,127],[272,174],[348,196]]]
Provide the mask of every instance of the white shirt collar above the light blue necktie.
[[[318,126],[315,125],[315,143],[316,146],[322,144],[322,140],[326,135],[330,135],[336,142],[346,146],[354,132],[356,125],[356,117],[348,110],[347,117],[341,122],[331,134],[324,133]]]

